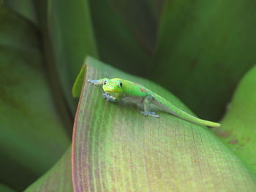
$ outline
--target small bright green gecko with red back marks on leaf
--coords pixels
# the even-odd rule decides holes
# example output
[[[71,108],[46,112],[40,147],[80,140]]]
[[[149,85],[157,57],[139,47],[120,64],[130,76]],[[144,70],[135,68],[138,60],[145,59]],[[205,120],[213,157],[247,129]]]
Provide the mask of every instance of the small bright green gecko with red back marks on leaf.
[[[157,93],[150,91],[148,88],[145,88],[136,82],[122,80],[119,78],[103,78],[100,80],[88,80],[88,82],[91,82],[93,85],[103,85],[102,88],[104,93],[102,96],[107,101],[132,101],[137,104],[142,103],[144,111],[142,111],[141,114],[145,116],[159,118],[159,115],[157,115],[156,112],[150,111],[151,104],[155,104],[165,112],[191,123],[210,127],[220,126],[219,123],[214,123],[189,115],[187,112],[178,109],[178,107],[162,98],[162,96],[159,96]]]

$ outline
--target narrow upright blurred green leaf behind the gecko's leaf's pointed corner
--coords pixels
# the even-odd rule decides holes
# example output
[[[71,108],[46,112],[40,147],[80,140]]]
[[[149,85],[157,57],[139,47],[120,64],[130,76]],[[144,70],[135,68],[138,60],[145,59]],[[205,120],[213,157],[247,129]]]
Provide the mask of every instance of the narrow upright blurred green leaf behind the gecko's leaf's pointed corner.
[[[37,7],[51,84],[55,89],[61,88],[61,96],[74,113],[72,84],[86,55],[97,57],[88,1],[41,0]]]

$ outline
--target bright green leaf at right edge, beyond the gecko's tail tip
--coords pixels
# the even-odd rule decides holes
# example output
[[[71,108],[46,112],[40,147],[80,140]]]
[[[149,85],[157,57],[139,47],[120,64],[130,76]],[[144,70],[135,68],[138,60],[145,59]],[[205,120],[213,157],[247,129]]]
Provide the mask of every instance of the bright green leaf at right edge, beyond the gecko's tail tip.
[[[222,120],[214,132],[256,173],[256,66],[241,80]]]

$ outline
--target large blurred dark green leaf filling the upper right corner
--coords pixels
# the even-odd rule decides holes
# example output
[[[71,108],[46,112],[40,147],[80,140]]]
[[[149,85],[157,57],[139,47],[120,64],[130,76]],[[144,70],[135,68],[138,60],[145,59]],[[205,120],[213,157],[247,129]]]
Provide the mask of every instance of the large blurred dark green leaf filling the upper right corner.
[[[219,119],[256,60],[255,0],[167,0],[153,80],[200,117]]]

